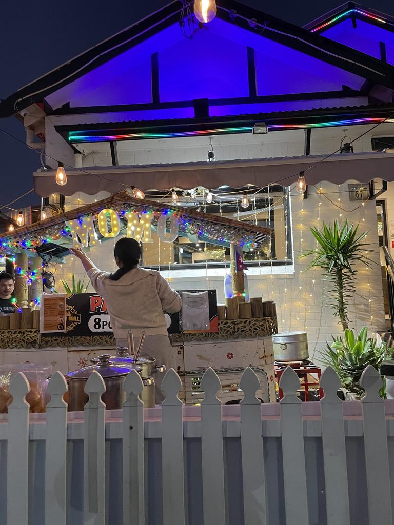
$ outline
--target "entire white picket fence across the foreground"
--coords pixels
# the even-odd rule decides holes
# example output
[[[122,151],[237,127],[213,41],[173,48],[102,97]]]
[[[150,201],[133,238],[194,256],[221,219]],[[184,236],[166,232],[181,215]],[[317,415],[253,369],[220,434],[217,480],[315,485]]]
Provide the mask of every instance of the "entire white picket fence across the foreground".
[[[341,402],[327,368],[320,403],[301,403],[288,367],[284,398],[264,405],[246,369],[240,405],[222,406],[219,377],[205,372],[201,407],[185,407],[174,370],[161,407],[142,407],[130,372],[122,411],[105,411],[94,372],[84,413],[67,413],[56,372],[46,414],[30,414],[22,373],[0,416],[1,525],[390,525],[394,406],[369,366],[361,402]],[[390,454],[389,454],[390,453]]]

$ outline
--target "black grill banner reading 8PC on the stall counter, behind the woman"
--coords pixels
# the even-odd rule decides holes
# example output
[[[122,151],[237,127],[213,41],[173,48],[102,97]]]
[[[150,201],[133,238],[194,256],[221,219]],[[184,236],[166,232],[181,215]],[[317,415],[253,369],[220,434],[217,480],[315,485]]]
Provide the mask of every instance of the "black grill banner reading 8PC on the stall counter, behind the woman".
[[[201,292],[203,290],[188,290],[190,292]],[[182,296],[182,292],[179,294]],[[60,297],[59,295],[49,295],[43,297]],[[66,296],[63,296],[66,297]],[[210,326],[207,332],[217,332],[217,306],[216,306],[216,290],[209,290],[209,318]],[[66,301],[66,328],[68,337],[92,337],[93,335],[111,335],[112,327],[107,310],[105,299],[98,293],[74,293],[67,296]],[[181,333],[182,332],[182,311],[178,313],[171,313],[169,315],[168,332]],[[57,326],[57,325],[56,325]],[[56,336],[58,329],[46,330],[46,332],[54,332]],[[64,331],[64,330],[62,330]],[[199,330],[200,331],[200,330]],[[202,330],[201,330],[202,331]],[[49,334],[50,335],[50,334]]]

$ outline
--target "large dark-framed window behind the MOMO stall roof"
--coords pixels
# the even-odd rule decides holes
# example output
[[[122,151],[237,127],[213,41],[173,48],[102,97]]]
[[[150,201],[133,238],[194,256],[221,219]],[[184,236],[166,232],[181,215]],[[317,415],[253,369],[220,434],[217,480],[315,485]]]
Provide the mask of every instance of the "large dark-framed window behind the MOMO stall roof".
[[[205,204],[205,211],[216,215],[222,215],[232,219],[257,224],[258,226],[271,227],[272,264],[291,264],[291,214],[289,212],[289,198],[287,188],[282,186],[271,186],[263,188],[258,193],[257,188],[246,188],[250,205],[247,209],[241,207],[243,190],[213,190],[213,202]],[[206,194],[206,190],[200,193]],[[186,192],[185,192],[186,193]],[[255,194],[255,195],[254,195]],[[179,195],[180,205],[188,206],[190,210],[204,210],[203,195],[190,197],[190,195]],[[151,196],[149,197],[151,198]],[[190,203],[188,202],[190,201]],[[163,201],[161,201],[163,202]],[[164,243],[159,239],[155,229],[152,228],[152,244],[142,244],[142,266],[150,268],[175,267],[222,267],[230,262],[230,245],[220,241],[199,238],[198,236],[186,236],[180,232],[174,243]],[[248,266],[271,265],[268,244],[262,244],[244,251],[243,260]]]

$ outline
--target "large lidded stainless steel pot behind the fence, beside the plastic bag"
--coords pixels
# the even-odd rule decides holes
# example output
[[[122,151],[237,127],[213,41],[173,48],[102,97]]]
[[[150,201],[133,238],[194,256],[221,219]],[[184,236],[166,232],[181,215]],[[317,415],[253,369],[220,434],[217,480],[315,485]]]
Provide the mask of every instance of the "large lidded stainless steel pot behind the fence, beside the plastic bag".
[[[85,385],[91,374],[98,372],[106,385],[106,391],[101,399],[106,404],[106,409],[122,408],[125,401],[125,392],[123,383],[127,374],[131,370],[136,370],[142,374],[142,369],[138,365],[128,363],[113,363],[110,361],[110,355],[104,354],[99,356],[98,364],[86,366],[80,370],[67,374],[70,401],[68,404],[69,411],[83,410],[88,402],[88,395],[85,394]]]

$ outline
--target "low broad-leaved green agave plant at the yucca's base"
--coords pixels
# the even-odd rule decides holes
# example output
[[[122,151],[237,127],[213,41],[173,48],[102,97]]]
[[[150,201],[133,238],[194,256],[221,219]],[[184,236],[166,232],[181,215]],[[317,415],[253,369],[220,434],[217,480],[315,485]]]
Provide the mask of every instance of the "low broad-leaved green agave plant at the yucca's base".
[[[333,337],[333,340],[331,345],[327,343],[327,348],[320,352],[320,361],[333,367],[342,386],[349,392],[361,396],[364,393],[359,384],[362,372],[369,364],[376,370],[380,369],[387,355],[387,345],[379,337],[368,338],[367,327],[360,330],[357,339],[353,330],[346,330],[345,337]],[[384,386],[381,395],[385,396]]]

